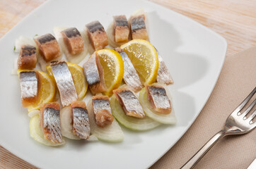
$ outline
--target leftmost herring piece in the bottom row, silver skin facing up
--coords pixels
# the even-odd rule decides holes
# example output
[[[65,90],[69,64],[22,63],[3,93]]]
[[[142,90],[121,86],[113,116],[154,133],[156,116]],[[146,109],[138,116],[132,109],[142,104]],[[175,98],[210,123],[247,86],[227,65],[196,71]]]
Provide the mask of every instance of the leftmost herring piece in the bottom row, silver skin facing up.
[[[43,126],[45,137],[52,143],[62,143],[59,110],[46,107],[43,110]]]

